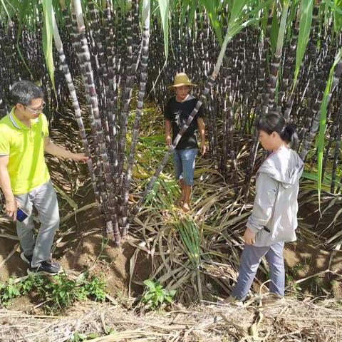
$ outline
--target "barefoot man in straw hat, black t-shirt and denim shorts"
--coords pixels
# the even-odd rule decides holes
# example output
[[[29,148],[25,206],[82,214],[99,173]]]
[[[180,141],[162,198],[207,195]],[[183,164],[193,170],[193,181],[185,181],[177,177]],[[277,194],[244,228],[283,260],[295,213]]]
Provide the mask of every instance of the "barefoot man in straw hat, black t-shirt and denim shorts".
[[[190,95],[190,87],[195,86],[195,84],[190,82],[186,73],[177,73],[173,85],[169,87],[176,94],[167,102],[165,109],[165,135],[168,147],[172,145],[172,140],[176,138],[182,125],[186,123],[187,118],[189,118],[192,110],[195,108],[198,99]],[[199,108],[197,115],[182,135],[173,152],[175,175],[177,180],[180,181],[180,187],[182,188],[182,195],[177,203],[181,205],[184,212],[190,210],[191,188],[194,184],[195,158],[198,152],[197,129],[201,136],[201,154],[204,155],[206,147],[202,107]]]

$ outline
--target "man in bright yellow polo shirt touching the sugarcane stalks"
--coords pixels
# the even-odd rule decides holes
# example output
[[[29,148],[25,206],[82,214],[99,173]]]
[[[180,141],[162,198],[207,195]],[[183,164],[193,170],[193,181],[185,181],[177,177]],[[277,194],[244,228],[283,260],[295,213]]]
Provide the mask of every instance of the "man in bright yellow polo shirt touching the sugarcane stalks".
[[[6,213],[16,221],[21,244],[21,259],[28,273],[58,274],[61,266],[51,261],[51,247],[59,227],[56,192],[48,174],[44,152],[56,157],[84,162],[84,153],[73,153],[51,142],[48,122],[42,110],[43,91],[28,81],[14,83],[10,92],[13,108],[0,120],[0,187],[6,199]],[[34,237],[32,209],[36,207],[41,222]],[[16,220],[20,207],[28,217]]]

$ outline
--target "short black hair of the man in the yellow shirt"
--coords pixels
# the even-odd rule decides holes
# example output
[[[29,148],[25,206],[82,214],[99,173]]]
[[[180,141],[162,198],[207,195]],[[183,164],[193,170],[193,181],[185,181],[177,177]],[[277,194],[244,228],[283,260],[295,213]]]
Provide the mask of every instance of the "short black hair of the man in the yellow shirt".
[[[11,104],[16,105],[21,103],[22,105],[30,105],[33,98],[43,98],[44,93],[41,88],[29,81],[18,81],[14,83],[9,92],[9,98]]]

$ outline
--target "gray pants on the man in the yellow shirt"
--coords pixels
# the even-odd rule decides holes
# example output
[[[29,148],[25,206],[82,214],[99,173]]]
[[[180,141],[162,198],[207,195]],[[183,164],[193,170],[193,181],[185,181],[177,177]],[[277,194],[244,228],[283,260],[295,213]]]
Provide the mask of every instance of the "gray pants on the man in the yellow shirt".
[[[15,195],[21,205],[21,209],[28,214],[24,222],[16,221],[21,249],[25,255],[32,255],[32,267],[37,267],[41,261],[51,259],[51,247],[56,230],[59,227],[59,211],[56,191],[53,189],[51,180],[36,187],[28,194]],[[41,228],[36,241],[33,234],[33,206],[38,211]]]

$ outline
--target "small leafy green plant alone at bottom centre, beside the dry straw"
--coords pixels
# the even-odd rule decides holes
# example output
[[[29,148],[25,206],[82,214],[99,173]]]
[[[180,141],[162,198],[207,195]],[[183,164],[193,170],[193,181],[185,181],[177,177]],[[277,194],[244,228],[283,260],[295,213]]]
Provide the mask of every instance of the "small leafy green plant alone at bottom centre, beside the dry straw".
[[[160,306],[166,306],[172,303],[176,290],[168,291],[160,285],[159,281],[152,281],[151,279],[145,280],[144,284],[147,288],[142,297],[142,303],[145,304],[147,308],[157,309]]]

